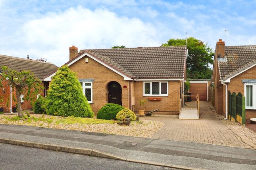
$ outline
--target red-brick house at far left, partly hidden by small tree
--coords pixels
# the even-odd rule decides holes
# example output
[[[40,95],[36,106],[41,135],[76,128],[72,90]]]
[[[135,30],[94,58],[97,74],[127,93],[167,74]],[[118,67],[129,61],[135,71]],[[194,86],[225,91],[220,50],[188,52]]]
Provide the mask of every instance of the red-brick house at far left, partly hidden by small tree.
[[[43,77],[58,68],[56,65],[50,62],[42,62],[32,59],[22,59],[18,57],[0,55],[0,76],[2,66],[8,66],[9,68],[16,71],[30,70],[31,72],[33,72],[35,76],[42,81],[42,85],[45,88],[42,94],[40,94],[42,96],[46,96],[47,89],[49,87],[49,83],[47,81],[44,81]],[[4,87],[0,89],[0,96],[4,100],[0,102],[0,107],[4,107],[4,112],[12,112],[13,106],[16,106],[16,98],[13,99],[13,96],[16,97],[16,91],[10,86],[6,87],[6,85],[8,84],[7,80],[4,80],[2,84],[4,85]],[[21,97],[23,97],[22,95]],[[30,101],[21,100],[21,107],[23,110],[26,110],[30,109],[32,106],[30,104]]]

